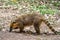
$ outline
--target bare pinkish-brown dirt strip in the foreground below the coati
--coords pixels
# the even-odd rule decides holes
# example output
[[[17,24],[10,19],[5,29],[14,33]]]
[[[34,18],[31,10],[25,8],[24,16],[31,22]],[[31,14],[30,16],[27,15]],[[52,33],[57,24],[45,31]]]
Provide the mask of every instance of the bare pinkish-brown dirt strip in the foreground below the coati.
[[[60,40],[60,35],[32,35],[0,31],[0,40]]]

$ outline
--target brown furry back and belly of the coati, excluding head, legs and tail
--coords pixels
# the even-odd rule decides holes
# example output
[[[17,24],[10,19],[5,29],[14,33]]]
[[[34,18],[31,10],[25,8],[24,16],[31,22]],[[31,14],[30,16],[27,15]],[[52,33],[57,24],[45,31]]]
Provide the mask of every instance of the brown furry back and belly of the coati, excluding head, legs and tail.
[[[33,25],[34,20],[38,21],[44,19],[42,15],[37,14],[37,13],[33,13],[33,14],[23,14],[21,16],[19,16],[15,22],[23,22],[23,24],[25,26],[27,25]]]

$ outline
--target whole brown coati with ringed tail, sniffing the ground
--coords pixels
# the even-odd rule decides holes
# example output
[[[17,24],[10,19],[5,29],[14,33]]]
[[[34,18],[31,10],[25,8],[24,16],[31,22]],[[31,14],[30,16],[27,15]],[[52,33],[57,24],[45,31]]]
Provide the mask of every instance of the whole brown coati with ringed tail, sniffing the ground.
[[[36,33],[40,34],[39,26],[42,22],[44,22],[49,27],[49,29],[56,34],[57,31],[52,28],[50,23],[45,19],[43,15],[38,13],[20,15],[14,22],[10,24],[9,32],[11,32],[12,29],[17,28],[19,28],[20,32],[23,32],[25,26],[33,25]]]

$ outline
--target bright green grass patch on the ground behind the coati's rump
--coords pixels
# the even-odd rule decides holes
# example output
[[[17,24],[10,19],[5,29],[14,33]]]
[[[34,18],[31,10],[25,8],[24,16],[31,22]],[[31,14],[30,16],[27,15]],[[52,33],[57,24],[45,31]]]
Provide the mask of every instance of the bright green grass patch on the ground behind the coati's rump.
[[[46,5],[40,5],[38,7],[32,6],[32,8],[36,11],[39,11],[43,15],[44,14],[52,14],[53,15],[54,13],[58,12],[57,9],[51,9],[51,8],[47,7]]]

